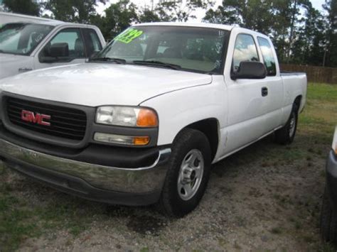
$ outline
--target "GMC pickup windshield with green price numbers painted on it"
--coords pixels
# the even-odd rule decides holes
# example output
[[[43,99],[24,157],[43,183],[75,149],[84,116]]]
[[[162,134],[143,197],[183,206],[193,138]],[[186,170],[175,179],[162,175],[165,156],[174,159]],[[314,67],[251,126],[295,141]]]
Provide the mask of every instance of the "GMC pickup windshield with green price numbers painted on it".
[[[117,35],[92,60],[220,74],[228,35],[213,28],[135,26]]]

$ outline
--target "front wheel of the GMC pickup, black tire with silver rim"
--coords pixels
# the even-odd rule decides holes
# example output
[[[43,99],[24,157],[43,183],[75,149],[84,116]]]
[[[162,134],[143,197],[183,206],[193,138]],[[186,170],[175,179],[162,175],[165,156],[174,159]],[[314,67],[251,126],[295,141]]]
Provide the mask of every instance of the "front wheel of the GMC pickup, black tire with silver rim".
[[[195,209],[205,193],[210,175],[210,143],[200,131],[186,128],[173,142],[159,210],[183,217]]]

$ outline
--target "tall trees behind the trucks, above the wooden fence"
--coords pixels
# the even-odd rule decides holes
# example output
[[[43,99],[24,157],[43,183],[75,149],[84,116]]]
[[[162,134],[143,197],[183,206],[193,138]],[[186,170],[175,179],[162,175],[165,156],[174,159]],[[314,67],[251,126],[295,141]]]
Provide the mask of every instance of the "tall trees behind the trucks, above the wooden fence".
[[[61,21],[92,23],[107,40],[132,23],[185,22],[205,11],[203,21],[250,28],[269,35],[280,62],[337,67],[337,0],[326,0],[323,13],[310,0],[164,0],[139,7],[131,0],[109,4],[102,15],[97,4],[107,0],[4,0],[6,11]]]

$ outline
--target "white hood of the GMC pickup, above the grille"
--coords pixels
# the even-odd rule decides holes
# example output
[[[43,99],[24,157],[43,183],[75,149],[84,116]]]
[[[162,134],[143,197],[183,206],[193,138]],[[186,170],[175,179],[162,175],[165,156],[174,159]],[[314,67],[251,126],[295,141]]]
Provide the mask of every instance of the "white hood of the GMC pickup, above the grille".
[[[132,105],[178,89],[210,84],[211,75],[158,67],[85,63],[26,72],[0,81],[0,89],[85,106]]]

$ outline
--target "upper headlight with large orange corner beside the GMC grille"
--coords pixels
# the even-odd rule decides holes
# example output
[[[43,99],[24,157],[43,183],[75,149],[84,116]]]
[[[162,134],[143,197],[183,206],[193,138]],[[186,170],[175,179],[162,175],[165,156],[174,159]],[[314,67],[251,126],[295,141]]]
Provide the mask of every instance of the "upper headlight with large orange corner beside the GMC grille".
[[[158,117],[152,109],[132,106],[100,106],[96,113],[97,124],[129,127],[156,127]]]

